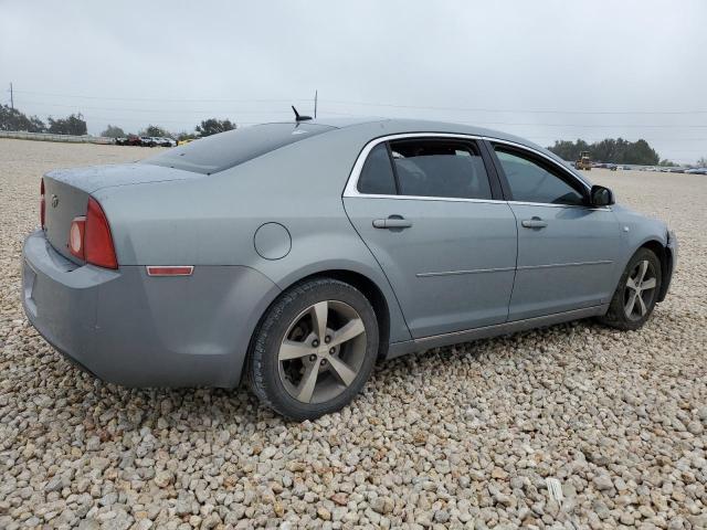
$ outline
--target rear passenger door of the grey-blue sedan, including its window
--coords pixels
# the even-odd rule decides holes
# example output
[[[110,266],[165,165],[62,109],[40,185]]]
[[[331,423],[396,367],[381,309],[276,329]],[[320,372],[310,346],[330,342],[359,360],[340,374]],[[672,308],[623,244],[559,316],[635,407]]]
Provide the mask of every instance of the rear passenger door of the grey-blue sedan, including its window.
[[[474,140],[367,146],[346,211],[388,276],[414,338],[504,322],[516,266],[510,206]]]

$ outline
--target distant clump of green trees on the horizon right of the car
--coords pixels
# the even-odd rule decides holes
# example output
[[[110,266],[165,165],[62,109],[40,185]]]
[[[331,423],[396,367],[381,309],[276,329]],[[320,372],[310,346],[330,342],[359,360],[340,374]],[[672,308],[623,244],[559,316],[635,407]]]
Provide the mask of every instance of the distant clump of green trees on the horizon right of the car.
[[[673,165],[669,160],[661,161],[656,150],[645,140],[629,141],[623,138],[606,138],[593,144],[588,144],[581,139],[577,141],[556,140],[555,145],[548,147],[548,149],[563,160],[578,160],[580,152],[589,151],[591,159],[598,162],[635,163],[640,166]]]

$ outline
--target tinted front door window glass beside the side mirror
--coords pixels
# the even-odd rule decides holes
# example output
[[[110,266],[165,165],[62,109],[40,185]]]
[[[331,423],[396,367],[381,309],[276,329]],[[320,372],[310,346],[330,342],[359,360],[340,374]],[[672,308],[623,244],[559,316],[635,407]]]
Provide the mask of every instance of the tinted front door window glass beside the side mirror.
[[[558,174],[524,157],[518,151],[494,146],[506,173],[514,201],[547,204],[584,204],[582,193]]]

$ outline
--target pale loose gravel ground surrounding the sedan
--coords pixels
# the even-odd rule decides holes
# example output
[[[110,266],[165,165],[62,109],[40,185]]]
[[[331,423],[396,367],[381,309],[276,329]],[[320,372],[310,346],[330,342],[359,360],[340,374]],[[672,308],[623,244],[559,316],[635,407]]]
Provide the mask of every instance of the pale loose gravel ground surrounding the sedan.
[[[386,362],[337,414],[125,390],[28,326],[39,177],[141,148],[0,140],[0,527],[707,528],[707,177],[594,170],[680,263],[637,332],[574,322]]]

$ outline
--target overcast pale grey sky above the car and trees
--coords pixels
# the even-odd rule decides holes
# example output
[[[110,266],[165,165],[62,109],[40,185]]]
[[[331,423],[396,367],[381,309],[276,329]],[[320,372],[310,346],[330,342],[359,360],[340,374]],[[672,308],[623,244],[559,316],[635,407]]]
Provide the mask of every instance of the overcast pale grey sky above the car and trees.
[[[193,130],[319,117],[460,121],[540,145],[707,157],[707,1],[0,0],[0,103]]]

